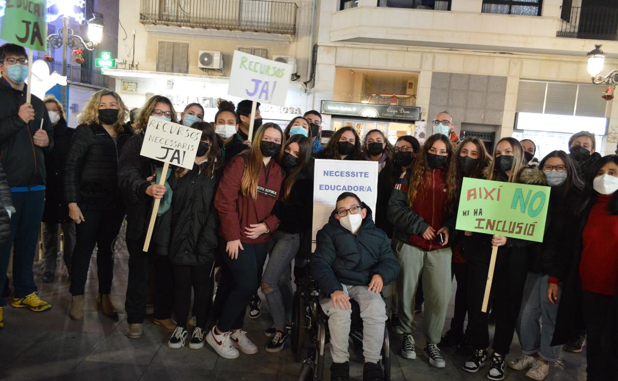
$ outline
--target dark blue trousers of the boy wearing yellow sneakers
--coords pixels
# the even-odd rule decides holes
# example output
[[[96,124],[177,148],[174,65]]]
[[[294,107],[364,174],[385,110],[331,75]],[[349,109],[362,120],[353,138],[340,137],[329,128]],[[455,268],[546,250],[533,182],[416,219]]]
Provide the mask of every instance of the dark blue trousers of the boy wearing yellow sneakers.
[[[36,291],[32,265],[41,230],[41,218],[45,207],[45,191],[13,192],[15,214],[11,216],[11,237],[0,250],[0,285],[6,282],[9,258],[13,248],[13,287],[15,298],[25,298]],[[4,306],[0,298],[0,306]]]

